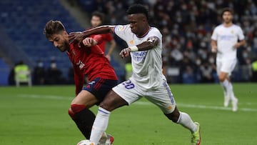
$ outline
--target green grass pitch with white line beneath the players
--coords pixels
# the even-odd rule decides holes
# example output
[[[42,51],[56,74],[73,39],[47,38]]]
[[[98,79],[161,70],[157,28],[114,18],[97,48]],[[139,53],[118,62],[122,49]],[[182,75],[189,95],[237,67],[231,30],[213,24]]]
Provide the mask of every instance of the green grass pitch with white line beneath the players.
[[[178,109],[201,124],[202,145],[257,143],[257,84],[233,88],[237,112],[223,107],[218,84],[171,85]],[[74,86],[0,86],[0,144],[76,145],[84,136],[68,115],[73,98]],[[191,139],[145,99],[113,111],[107,132],[114,145],[186,145]]]

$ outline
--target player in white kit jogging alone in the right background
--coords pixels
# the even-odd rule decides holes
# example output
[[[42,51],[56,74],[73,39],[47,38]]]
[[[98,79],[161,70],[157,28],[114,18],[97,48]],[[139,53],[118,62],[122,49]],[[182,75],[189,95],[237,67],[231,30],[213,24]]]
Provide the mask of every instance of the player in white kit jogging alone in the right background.
[[[236,50],[246,41],[241,27],[233,24],[232,9],[223,9],[221,18],[223,24],[216,26],[211,36],[211,51],[217,53],[216,70],[224,91],[224,106],[227,107],[231,101],[232,110],[237,111],[238,99],[233,93],[230,76],[236,66]]]

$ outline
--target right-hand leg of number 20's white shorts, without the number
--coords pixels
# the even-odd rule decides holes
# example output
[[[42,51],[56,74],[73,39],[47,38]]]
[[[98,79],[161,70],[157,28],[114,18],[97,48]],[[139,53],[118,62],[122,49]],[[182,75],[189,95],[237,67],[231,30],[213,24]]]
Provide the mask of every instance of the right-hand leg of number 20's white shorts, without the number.
[[[145,97],[153,104],[156,104],[164,114],[171,114],[176,107],[176,101],[166,80],[163,80],[163,83],[158,89],[148,91]]]

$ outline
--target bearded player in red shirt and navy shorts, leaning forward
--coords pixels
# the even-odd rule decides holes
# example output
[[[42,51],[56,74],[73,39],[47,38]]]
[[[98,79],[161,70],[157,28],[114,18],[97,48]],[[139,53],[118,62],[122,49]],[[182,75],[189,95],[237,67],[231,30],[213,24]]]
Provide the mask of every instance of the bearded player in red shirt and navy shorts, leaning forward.
[[[116,86],[118,78],[114,68],[109,64],[104,52],[97,45],[99,42],[95,39],[86,38],[86,41],[91,43],[81,46],[75,41],[69,43],[69,34],[61,21],[48,21],[44,34],[59,51],[66,51],[74,66],[76,97],[71,101],[69,115],[81,133],[89,139],[95,119],[95,114],[89,108],[99,104],[111,88]],[[86,86],[84,86],[84,75],[89,78]],[[113,139],[108,137],[109,140]]]

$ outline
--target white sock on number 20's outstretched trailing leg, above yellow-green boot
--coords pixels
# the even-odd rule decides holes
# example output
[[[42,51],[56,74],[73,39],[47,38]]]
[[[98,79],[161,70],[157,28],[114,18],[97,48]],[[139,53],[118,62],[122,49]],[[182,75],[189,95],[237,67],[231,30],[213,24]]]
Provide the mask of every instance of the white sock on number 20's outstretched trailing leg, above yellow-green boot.
[[[178,117],[178,121],[176,123],[181,124],[186,129],[189,129],[191,132],[195,132],[197,130],[196,124],[193,123],[191,117],[183,112],[179,112],[180,115]]]

